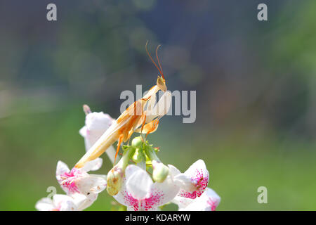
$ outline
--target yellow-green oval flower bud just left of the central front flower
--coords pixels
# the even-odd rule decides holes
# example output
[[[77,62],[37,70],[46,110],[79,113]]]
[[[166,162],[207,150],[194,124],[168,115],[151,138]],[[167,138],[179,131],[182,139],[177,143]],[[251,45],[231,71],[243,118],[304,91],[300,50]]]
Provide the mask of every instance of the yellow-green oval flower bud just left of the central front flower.
[[[107,174],[107,193],[109,195],[117,195],[123,184],[124,170],[119,167],[113,167]]]

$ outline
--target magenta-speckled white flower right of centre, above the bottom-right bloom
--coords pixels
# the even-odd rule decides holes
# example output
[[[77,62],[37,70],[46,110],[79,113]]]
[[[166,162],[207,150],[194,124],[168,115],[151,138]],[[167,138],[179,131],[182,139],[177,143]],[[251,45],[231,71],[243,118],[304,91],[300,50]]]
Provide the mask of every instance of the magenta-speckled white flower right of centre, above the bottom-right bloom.
[[[180,197],[195,199],[202,195],[209,184],[209,171],[203,160],[197,160],[184,173],[172,165],[169,168],[172,169],[175,183],[180,186]]]

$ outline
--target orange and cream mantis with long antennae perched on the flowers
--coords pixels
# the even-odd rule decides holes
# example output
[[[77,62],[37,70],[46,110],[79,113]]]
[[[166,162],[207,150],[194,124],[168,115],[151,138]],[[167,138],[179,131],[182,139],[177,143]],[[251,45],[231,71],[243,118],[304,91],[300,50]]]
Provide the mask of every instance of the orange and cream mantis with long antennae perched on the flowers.
[[[139,132],[141,134],[146,134],[147,136],[148,134],[157,130],[159,119],[163,115],[166,115],[171,103],[171,94],[169,91],[167,91],[162,65],[160,64],[158,58],[159,46],[157,46],[156,49],[156,57],[159,67],[154,62],[152,56],[150,56],[150,53],[147,51],[147,43],[145,46],[148,56],[160,73],[160,76],[157,78],[157,84],[152,86],[152,88],[147,92],[147,94],[145,94],[145,96],[143,96],[143,98],[135,101],[117,118],[117,120],[109,127],[109,129],[105,131],[100,139],[98,139],[98,141],[93,144],[93,146],[79,160],[79,162],[77,162],[75,167],[84,167],[86,162],[95,160],[100,155],[102,155],[105,150],[107,150],[107,148],[109,148],[115,141],[118,141],[117,152],[115,154],[116,159],[121,143],[129,141],[133,132]],[[159,90],[163,91],[164,95],[155,105],[156,94]]]

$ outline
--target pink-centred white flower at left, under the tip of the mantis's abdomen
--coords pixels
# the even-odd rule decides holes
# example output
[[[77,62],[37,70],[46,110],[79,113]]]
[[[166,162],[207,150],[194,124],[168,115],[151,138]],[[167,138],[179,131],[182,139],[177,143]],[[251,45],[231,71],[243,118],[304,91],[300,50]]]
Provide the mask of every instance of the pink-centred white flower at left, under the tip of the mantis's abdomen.
[[[98,197],[98,193],[104,191],[107,182],[105,175],[88,174],[91,168],[99,169],[102,163],[100,158],[87,162],[80,169],[70,170],[64,162],[58,161],[56,169],[56,179],[67,195],[75,198],[78,194],[85,195],[84,207],[90,206]],[[101,161],[102,162],[102,161]]]

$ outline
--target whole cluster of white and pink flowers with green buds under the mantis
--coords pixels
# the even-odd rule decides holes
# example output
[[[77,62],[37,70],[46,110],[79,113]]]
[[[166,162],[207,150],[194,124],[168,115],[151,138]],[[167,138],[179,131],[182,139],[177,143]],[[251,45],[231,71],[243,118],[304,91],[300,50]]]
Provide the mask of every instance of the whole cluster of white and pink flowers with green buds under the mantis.
[[[87,105],[84,105],[84,111],[86,125],[79,133],[84,137],[86,150],[89,150],[115,120],[102,112],[91,113]],[[220,197],[207,187],[209,171],[203,160],[197,160],[185,172],[180,172],[173,165],[164,165],[157,157],[159,149],[150,145],[142,135],[122,148],[121,159],[107,176],[88,174],[100,169],[101,158],[72,169],[59,161],[56,179],[65,195],[42,198],[35,206],[37,210],[84,210],[105,189],[127,210],[159,210],[167,203],[175,203],[178,210],[216,210]],[[114,162],[114,148],[110,146],[106,153]]]

